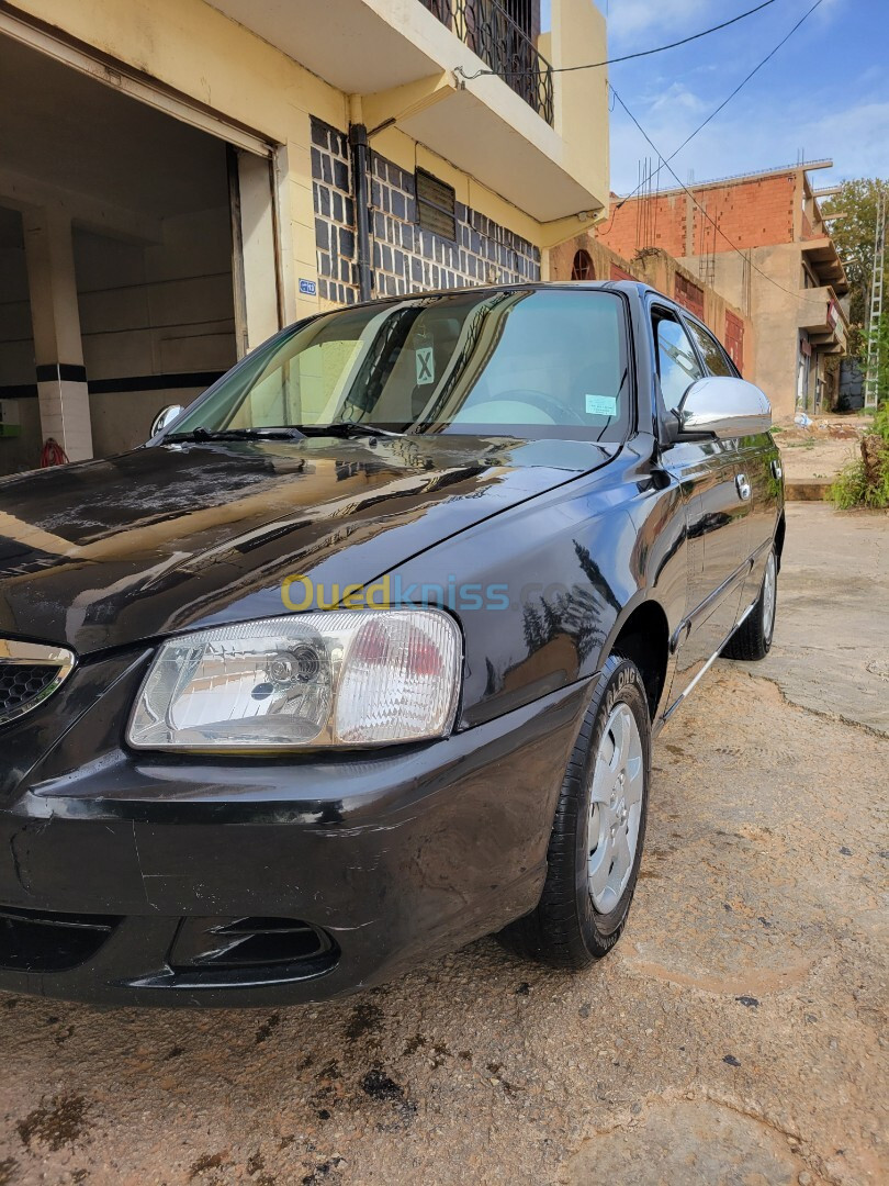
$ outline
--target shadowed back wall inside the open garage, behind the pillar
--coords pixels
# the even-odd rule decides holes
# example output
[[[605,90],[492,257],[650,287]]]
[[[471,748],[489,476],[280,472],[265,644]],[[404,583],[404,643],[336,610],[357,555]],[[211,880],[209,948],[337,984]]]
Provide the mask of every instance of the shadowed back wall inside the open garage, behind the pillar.
[[[228,208],[166,219],[164,241],[143,247],[75,230],[83,356],[91,382],[172,374],[213,374],[235,362]],[[151,380],[149,380],[151,382]],[[92,442],[103,457],[147,439],[170,403],[188,403],[206,385],[94,393]],[[0,397],[34,387],[24,250],[0,251]],[[37,466],[43,444],[36,389],[12,401],[20,434],[0,435],[0,474]],[[9,404],[7,404],[9,407]]]

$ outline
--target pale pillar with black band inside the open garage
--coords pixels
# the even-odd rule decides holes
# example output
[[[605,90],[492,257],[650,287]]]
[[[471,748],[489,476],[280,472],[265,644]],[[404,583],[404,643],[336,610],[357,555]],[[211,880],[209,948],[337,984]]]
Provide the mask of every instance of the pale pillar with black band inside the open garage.
[[[23,215],[43,439],[70,461],[92,457],[92,429],[77,308],[71,219],[59,210]]]

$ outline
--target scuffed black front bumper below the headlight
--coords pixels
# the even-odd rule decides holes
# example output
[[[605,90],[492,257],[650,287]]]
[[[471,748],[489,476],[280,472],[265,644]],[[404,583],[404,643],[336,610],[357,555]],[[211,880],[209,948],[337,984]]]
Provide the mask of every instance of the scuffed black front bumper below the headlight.
[[[84,690],[137,684],[142,658],[116,664],[63,689],[89,707],[39,763],[20,755],[40,720],[0,738],[17,754],[0,771],[1,989],[117,1005],[320,1000],[539,898],[591,682],[407,751],[257,765],[127,753],[107,696]],[[31,714],[44,738],[65,719],[62,696]]]

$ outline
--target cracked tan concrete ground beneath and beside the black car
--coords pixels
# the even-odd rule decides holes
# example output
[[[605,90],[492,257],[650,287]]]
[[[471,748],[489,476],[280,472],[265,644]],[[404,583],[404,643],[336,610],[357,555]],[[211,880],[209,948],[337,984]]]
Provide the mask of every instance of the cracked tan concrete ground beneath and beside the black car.
[[[663,734],[591,973],[484,940],[312,1008],[0,997],[0,1184],[889,1180],[888,529],[791,509],[774,655],[717,664]]]

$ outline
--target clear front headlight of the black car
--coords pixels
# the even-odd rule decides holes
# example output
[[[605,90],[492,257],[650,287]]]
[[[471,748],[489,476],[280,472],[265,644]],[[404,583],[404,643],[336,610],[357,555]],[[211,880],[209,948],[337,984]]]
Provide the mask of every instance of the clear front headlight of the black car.
[[[460,631],[441,610],[341,610],[171,638],[127,729],[139,750],[296,750],[443,737]]]

